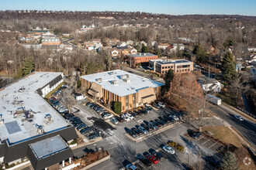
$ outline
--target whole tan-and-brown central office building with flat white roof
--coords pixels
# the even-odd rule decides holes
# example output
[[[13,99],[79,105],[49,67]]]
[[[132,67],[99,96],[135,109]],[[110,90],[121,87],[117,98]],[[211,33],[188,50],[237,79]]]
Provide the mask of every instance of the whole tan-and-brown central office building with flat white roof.
[[[122,112],[156,100],[163,83],[123,70],[81,76],[82,90],[105,103],[119,101]]]

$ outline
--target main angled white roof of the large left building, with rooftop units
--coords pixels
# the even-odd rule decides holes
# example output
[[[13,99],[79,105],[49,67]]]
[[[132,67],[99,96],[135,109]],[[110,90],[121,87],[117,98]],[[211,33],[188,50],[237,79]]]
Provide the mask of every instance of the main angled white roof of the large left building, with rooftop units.
[[[36,92],[37,89],[47,85],[62,73],[53,72],[35,72],[25,78],[10,84],[8,87],[0,90],[0,119],[4,124],[0,124],[0,139],[8,140],[9,145],[27,141],[40,135],[36,126],[42,126],[45,133],[66,128],[67,121],[51,107],[43,97]],[[23,91],[19,92],[19,89]],[[22,121],[25,114],[18,114],[12,117],[13,113],[23,107],[25,110],[33,111],[33,118],[29,121]],[[18,109],[19,108],[19,109]],[[52,122],[47,124],[46,114],[50,114]]]

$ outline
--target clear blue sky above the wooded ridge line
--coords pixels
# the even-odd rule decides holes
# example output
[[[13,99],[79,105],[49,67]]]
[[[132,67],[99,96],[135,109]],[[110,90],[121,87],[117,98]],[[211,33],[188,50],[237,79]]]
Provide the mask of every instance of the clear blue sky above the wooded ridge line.
[[[0,10],[153,12],[256,16],[256,0],[0,0]]]

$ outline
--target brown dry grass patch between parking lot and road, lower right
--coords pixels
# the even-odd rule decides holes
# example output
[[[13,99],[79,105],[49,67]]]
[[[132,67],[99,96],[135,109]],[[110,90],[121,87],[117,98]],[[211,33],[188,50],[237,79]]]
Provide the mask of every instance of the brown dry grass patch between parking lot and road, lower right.
[[[219,141],[222,141],[224,144],[232,144],[237,148],[243,147],[244,142],[240,141],[240,138],[237,137],[236,134],[224,126],[210,126],[203,127],[203,131],[210,131],[213,133],[213,138],[216,138]]]

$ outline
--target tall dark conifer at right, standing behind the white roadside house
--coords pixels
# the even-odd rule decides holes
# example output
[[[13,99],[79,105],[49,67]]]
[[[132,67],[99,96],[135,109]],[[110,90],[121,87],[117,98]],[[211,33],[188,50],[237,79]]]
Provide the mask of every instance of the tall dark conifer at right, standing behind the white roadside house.
[[[224,71],[224,79],[233,80],[237,76],[236,63],[234,62],[234,57],[232,53],[227,52],[223,58],[222,70]]]

